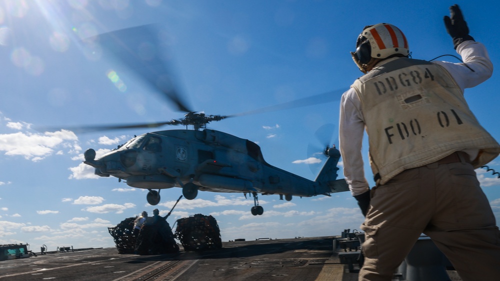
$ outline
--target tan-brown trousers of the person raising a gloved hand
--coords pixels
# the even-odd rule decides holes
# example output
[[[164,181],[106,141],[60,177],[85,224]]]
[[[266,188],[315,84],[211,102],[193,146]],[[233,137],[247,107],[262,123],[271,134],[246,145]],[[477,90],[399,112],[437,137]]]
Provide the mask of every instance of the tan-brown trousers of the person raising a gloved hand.
[[[500,280],[500,231],[472,166],[405,170],[371,191],[359,280],[391,280],[421,233],[464,281]]]

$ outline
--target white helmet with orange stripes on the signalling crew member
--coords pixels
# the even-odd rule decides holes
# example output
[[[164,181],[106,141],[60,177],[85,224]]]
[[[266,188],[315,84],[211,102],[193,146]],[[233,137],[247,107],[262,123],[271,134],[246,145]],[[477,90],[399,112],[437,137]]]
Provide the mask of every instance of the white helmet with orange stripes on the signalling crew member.
[[[352,59],[361,72],[370,71],[380,59],[409,55],[408,42],[399,28],[388,23],[365,26],[357,37]]]

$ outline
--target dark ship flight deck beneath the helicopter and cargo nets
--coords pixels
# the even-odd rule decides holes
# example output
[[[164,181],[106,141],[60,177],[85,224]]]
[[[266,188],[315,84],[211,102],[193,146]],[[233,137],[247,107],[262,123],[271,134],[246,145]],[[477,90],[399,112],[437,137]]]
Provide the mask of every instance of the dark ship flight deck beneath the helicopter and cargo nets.
[[[358,265],[339,259],[341,253],[354,255],[355,249],[338,241],[311,237],[222,242],[218,250],[185,252],[180,246],[178,254],[155,256],[118,254],[116,248],[60,252],[2,261],[0,281],[355,281]],[[454,271],[447,274],[452,281],[461,280]]]

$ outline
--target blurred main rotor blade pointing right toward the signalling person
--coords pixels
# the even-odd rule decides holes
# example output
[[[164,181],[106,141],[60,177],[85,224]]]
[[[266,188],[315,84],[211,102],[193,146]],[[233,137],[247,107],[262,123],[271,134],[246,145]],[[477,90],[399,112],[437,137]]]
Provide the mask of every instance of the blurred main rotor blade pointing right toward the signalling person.
[[[260,113],[266,113],[266,112],[272,112],[272,111],[278,111],[278,110],[299,108],[299,107],[305,107],[305,106],[316,105],[316,104],[321,104],[321,103],[333,102],[333,101],[339,100],[342,93],[345,92],[346,90],[347,90],[347,88],[340,88],[340,89],[325,92],[322,94],[317,94],[317,95],[313,95],[313,96],[309,96],[309,97],[305,97],[305,98],[300,98],[300,99],[288,101],[285,103],[266,106],[263,108],[254,109],[254,110],[250,110],[250,111],[246,111],[246,112],[242,112],[242,113],[226,115],[225,117],[229,118],[229,117],[253,115],[253,114],[260,114]]]

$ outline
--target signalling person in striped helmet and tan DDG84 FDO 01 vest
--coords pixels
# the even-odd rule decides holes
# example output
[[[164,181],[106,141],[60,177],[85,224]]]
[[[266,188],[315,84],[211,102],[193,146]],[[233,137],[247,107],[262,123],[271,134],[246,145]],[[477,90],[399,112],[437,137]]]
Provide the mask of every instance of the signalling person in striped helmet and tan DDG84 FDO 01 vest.
[[[463,96],[493,71],[458,5],[444,25],[463,63],[409,58],[394,25],[366,26],[351,53],[365,73],[340,104],[344,176],[365,221],[359,280],[391,280],[421,233],[464,281],[500,276],[500,232],[474,169],[500,153]],[[376,186],[364,177],[366,130]]]

